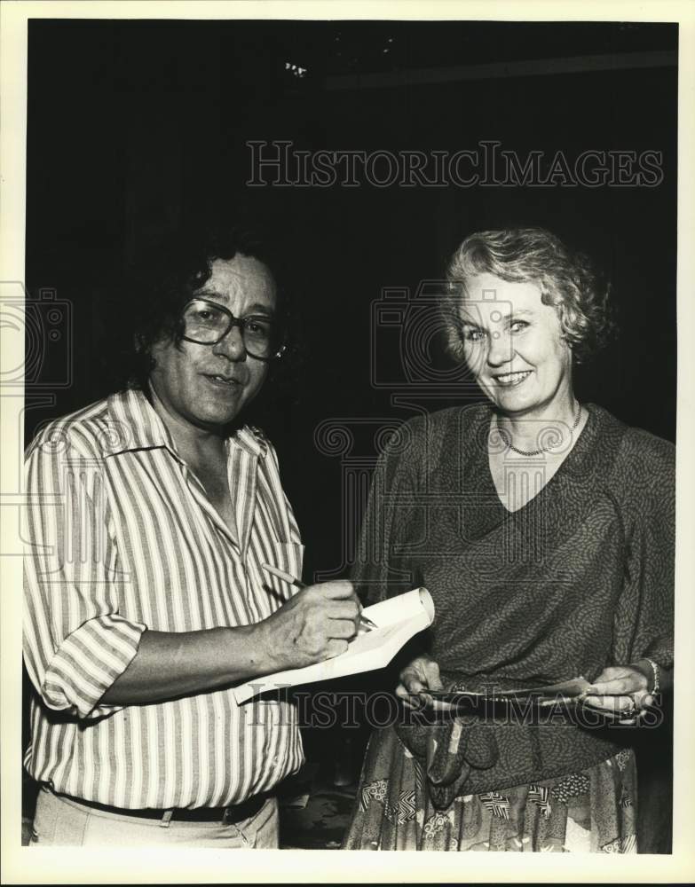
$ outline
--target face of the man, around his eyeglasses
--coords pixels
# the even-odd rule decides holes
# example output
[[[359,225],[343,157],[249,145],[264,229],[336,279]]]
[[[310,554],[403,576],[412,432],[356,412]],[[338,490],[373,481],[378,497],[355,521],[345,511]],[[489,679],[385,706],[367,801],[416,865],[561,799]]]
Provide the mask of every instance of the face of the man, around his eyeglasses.
[[[211,271],[196,295],[223,305],[235,318],[273,317],[275,282],[263,263],[235,255],[216,259]],[[268,372],[267,364],[246,353],[237,326],[216,345],[159,341],[152,357],[150,382],[170,418],[205,430],[231,422],[257,395]]]

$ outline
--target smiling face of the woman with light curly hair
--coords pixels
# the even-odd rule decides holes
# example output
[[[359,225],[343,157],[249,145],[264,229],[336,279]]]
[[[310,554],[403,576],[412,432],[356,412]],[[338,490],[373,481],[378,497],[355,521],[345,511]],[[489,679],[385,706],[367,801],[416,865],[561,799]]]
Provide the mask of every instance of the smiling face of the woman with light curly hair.
[[[466,363],[502,412],[542,412],[573,395],[572,351],[535,284],[479,274],[466,280],[459,314]]]

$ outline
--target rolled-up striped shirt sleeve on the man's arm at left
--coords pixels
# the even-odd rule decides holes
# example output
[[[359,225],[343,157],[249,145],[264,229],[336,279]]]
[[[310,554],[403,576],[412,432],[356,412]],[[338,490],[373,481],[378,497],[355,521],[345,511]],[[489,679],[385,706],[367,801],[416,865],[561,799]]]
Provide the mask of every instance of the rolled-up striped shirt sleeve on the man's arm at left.
[[[43,703],[78,718],[121,706],[101,697],[138,652],[146,625],[119,612],[123,577],[104,462],[62,430],[32,444],[26,464],[24,658]]]

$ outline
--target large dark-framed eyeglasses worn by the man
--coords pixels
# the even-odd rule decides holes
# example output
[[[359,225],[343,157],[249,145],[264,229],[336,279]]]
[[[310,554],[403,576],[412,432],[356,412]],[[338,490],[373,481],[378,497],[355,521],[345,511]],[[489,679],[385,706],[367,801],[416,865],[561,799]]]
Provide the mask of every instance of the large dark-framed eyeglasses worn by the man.
[[[282,357],[287,345],[280,341],[278,326],[262,314],[235,318],[231,311],[208,299],[192,299],[181,312],[182,339],[198,345],[217,345],[225,335],[238,326],[241,340],[249,357],[257,360],[275,360]]]

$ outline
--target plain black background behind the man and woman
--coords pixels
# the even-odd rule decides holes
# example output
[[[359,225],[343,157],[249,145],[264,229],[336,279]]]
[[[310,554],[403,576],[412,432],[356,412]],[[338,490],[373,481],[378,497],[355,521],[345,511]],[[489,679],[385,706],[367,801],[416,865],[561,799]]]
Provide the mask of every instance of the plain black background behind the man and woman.
[[[42,309],[28,439],[108,393],[123,264],[179,224],[244,216],[281,248],[302,325],[304,368],[265,428],[303,530],[305,578],[350,560],[359,522],[344,517],[344,463],[317,448],[315,429],[409,414],[391,400],[407,382],[372,384],[371,304],[383,287],[415,291],[440,277],[470,232],[541,224],[604,265],[620,340],[578,374],[579,396],[675,440],[677,70],[666,56],[640,66],[645,53],[676,49],[667,24],[31,21],[26,280],[32,298],[54,291],[59,315],[53,323]],[[612,67],[596,70],[606,56]],[[579,70],[562,73],[557,59],[580,59]],[[533,75],[514,73],[515,62],[542,60]],[[476,73],[481,65],[496,67]],[[570,161],[588,149],[652,150],[664,178],[652,188],[254,189],[250,139],[367,152],[496,139],[522,157],[562,150]],[[391,370],[382,333],[375,348]],[[46,394],[51,403],[33,402]],[[426,406],[463,396],[430,385]],[[368,470],[372,437],[358,455]]]

